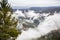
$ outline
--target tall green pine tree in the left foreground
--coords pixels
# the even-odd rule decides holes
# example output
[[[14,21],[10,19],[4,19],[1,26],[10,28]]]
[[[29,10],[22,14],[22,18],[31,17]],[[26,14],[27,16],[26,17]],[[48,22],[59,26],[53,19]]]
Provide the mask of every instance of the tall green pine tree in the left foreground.
[[[17,20],[12,18],[13,11],[8,0],[0,1],[0,40],[7,40],[10,37],[17,37]]]

